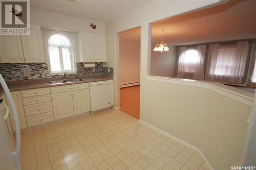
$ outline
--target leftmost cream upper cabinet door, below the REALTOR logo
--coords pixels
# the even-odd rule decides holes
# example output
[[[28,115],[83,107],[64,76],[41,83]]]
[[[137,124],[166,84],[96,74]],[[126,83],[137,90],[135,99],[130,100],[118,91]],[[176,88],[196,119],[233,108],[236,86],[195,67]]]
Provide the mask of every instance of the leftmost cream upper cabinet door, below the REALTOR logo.
[[[2,63],[23,63],[24,56],[20,36],[0,36],[0,56]]]

